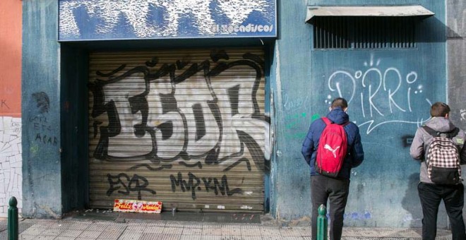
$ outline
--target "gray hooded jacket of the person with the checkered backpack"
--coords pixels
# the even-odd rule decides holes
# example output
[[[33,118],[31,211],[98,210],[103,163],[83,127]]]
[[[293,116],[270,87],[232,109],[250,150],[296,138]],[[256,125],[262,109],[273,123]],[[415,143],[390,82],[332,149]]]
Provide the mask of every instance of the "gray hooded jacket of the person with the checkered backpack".
[[[448,133],[455,129],[455,125],[451,123],[449,119],[443,117],[434,117],[426,123],[426,126],[434,129],[435,131],[441,133]],[[412,140],[410,155],[414,160],[422,161],[427,157],[427,151],[429,144],[431,143],[432,136],[426,132],[424,128],[417,128],[416,135]],[[460,164],[466,164],[466,146],[465,146],[465,132],[460,130],[458,135],[453,137],[453,142],[458,145],[458,150],[460,152]],[[422,161],[421,170],[420,170],[420,181],[433,184],[429,175],[427,174],[427,166]]]

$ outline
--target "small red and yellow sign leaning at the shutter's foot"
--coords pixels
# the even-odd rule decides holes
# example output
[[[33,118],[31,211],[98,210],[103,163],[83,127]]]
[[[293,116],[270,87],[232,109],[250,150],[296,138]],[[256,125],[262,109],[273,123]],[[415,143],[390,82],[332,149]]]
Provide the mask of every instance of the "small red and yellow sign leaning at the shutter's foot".
[[[114,212],[160,213],[162,211],[162,202],[115,199],[114,205],[113,205],[113,211]]]

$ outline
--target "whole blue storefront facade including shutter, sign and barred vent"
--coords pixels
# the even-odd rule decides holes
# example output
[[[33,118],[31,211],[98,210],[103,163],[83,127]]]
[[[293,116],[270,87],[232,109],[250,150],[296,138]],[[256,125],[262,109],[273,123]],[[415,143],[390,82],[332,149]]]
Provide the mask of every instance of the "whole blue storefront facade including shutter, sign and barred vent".
[[[419,226],[408,149],[448,98],[445,3],[344,5],[23,1],[23,215],[130,198],[309,221],[301,143],[345,97],[366,152],[345,224]]]

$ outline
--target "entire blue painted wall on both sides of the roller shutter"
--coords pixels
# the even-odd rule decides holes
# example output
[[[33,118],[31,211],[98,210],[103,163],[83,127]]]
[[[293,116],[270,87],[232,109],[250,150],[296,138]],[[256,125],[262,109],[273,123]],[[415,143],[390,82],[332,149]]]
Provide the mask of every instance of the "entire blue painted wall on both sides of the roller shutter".
[[[345,224],[419,227],[422,216],[417,197],[419,164],[410,159],[408,150],[417,126],[429,118],[429,102],[446,101],[445,3],[383,2],[422,4],[436,13],[419,23],[416,49],[312,49],[312,25],[304,23],[306,6],[340,2],[277,2],[278,38],[275,44],[265,42],[273,47],[268,76],[271,138],[275,141],[270,164],[270,212],[282,222],[309,221],[309,169],[301,156],[301,143],[311,121],[326,114],[329,100],[339,95],[335,91],[339,83],[342,97],[351,100],[349,115],[361,128],[366,150],[365,162],[352,172]],[[345,1],[345,5],[349,4],[381,3]],[[86,145],[80,131],[86,124],[76,118],[85,112],[78,102],[86,97],[73,92],[83,88],[73,85],[73,81],[85,76],[86,54],[75,47],[135,49],[151,45],[173,47],[171,43],[177,43],[177,40],[135,40],[133,44],[81,42],[60,47],[56,41],[57,11],[57,1],[23,1],[25,217],[61,217],[64,212],[85,205],[86,197],[79,196],[85,194],[83,179],[87,177],[80,175],[85,174],[85,169],[67,175],[87,164],[81,158],[85,154],[80,152]],[[257,39],[242,44],[251,42],[261,44]],[[220,42],[178,42],[176,46],[209,44]],[[73,63],[73,59],[78,61]],[[75,71],[82,75],[73,74]],[[371,92],[369,85],[373,86]],[[82,145],[73,148],[73,141]],[[439,224],[441,227],[447,224],[442,211]]]

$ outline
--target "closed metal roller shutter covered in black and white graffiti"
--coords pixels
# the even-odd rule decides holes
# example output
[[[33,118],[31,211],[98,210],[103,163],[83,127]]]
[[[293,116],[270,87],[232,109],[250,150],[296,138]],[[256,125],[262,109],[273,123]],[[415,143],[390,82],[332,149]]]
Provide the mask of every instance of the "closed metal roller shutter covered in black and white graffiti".
[[[262,49],[90,54],[90,207],[262,212],[263,59]]]

